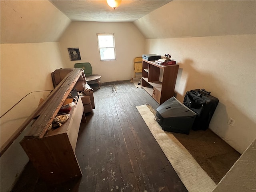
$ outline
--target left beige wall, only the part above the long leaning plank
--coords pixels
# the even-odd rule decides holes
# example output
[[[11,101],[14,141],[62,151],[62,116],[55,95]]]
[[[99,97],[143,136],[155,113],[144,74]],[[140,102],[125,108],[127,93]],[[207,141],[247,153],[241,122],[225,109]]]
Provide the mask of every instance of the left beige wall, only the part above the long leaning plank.
[[[1,115],[30,92],[52,90],[50,73],[60,67],[57,42],[1,44]],[[30,94],[1,118],[1,148],[47,94]]]

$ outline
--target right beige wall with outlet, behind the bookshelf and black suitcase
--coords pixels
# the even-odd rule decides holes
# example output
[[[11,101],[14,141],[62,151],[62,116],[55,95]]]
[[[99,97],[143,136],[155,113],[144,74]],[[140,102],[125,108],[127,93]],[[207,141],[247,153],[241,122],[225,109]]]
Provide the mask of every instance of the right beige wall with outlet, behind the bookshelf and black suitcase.
[[[256,136],[255,43],[255,35],[146,41],[146,52],[170,53],[180,64],[178,100],[195,88],[205,88],[219,99],[210,129],[241,154]],[[233,127],[227,124],[230,117]]]

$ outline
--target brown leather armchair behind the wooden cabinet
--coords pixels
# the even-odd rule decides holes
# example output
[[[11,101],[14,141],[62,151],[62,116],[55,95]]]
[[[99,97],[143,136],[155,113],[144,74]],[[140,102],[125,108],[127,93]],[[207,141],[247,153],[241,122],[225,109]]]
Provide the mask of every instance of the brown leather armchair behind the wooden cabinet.
[[[68,75],[74,68],[60,68],[52,72],[52,84],[54,88]],[[84,72],[83,72],[84,73]],[[85,76],[82,74],[78,79],[75,88],[80,92],[80,97],[84,105],[84,113],[91,112],[95,108],[93,89],[87,84]]]

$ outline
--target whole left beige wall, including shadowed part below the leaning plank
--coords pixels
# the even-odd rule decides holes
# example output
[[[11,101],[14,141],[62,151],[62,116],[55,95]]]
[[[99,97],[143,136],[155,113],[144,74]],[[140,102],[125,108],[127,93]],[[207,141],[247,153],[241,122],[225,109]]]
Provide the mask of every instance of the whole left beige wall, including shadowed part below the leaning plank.
[[[52,90],[50,73],[63,67],[57,42],[1,44],[1,116],[26,94]],[[12,139],[22,122],[37,108],[46,92],[29,94],[1,118],[1,150]],[[28,162],[19,142],[29,126],[1,156],[1,191],[10,191]]]

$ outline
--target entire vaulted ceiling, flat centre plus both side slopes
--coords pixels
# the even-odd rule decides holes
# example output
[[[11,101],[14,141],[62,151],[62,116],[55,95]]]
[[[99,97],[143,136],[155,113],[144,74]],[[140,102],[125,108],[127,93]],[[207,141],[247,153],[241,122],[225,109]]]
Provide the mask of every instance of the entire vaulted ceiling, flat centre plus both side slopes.
[[[57,42],[72,21],[133,22],[145,38],[255,34],[256,1],[0,0],[1,44]]]

